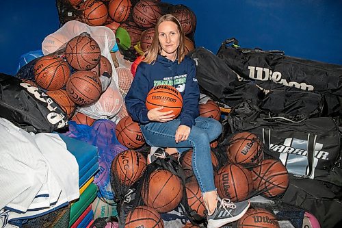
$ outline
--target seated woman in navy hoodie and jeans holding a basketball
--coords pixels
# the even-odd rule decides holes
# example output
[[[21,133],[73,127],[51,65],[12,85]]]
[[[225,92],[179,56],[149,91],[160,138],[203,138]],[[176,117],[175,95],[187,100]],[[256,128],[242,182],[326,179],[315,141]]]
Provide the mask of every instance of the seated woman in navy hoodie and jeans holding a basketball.
[[[179,118],[163,107],[147,110],[145,100],[154,86],[174,86],[183,97]],[[231,203],[219,199],[213,181],[210,142],[222,131],[220,122],[198,116],[199,87],[195,62],[185,56],[184,34],[179,21],[171,14],[159,18],[155,36],[144,61],[137,66],[135,78],[125,97],[133,120],[140,123],[151,147],[167,148],[169,153],[193,149],[192,168],[207,209],[208,227],[221,227],[238,220],[248,210],[248,201]],[[172,149],[174,148],[174,149]],[[156,154],[149,157],[157,156]]]

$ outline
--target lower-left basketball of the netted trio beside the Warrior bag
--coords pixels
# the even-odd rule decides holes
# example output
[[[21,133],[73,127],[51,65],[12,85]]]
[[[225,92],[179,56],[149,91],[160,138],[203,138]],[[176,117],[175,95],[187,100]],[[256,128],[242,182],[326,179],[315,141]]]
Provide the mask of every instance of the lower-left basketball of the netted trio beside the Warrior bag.
[[[253,190],[250,171],[239,164],[227,164],[214,177],[218,195],[233,202],[244,201]]]

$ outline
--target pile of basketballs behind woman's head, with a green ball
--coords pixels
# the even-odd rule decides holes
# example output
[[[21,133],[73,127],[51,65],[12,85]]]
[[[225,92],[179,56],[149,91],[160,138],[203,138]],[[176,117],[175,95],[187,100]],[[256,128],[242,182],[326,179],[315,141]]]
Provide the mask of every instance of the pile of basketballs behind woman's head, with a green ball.
[[[157,0],[140,0],[132,5],[131,0],[68,0],[80,12],[79,21],[91,26],[105,25],[116,34],[119,47],[146,51],[155,35],[158,18],[166,11],[179,19],[185,35],[192,35],[196,27],[196,16],[184,5],[161,3]],[[170,10],[168,10],[170,8]],[[190,36],[191,37],[191,36]],[[194,49],[194,42],[185,38],[185,51]]]

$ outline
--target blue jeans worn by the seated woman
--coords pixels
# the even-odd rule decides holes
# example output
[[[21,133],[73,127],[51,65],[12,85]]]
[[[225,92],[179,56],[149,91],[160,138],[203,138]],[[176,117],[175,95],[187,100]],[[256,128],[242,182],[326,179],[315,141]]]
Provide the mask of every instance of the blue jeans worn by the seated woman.
[[[151,122],[141,125],[142,134],[151,147],[175,147],[179,153],[193,149],[192,169],[202,193],[216,190],[213,181],[213,165],[211,163],[210,142],[218,138],[222,125],[213,118],[198,116],[195,119],[189,137],[176,143],[175,134],[180,120],[174,119],[167,123]]]

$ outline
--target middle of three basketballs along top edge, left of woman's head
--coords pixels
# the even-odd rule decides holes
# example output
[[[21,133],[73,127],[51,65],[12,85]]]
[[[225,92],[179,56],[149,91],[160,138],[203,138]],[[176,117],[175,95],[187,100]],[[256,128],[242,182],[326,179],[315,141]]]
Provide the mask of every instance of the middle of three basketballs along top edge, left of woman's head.
[[[111,0],[108,5],[109,16],[116,22],[126,21],[131,12],[130,0]]]

